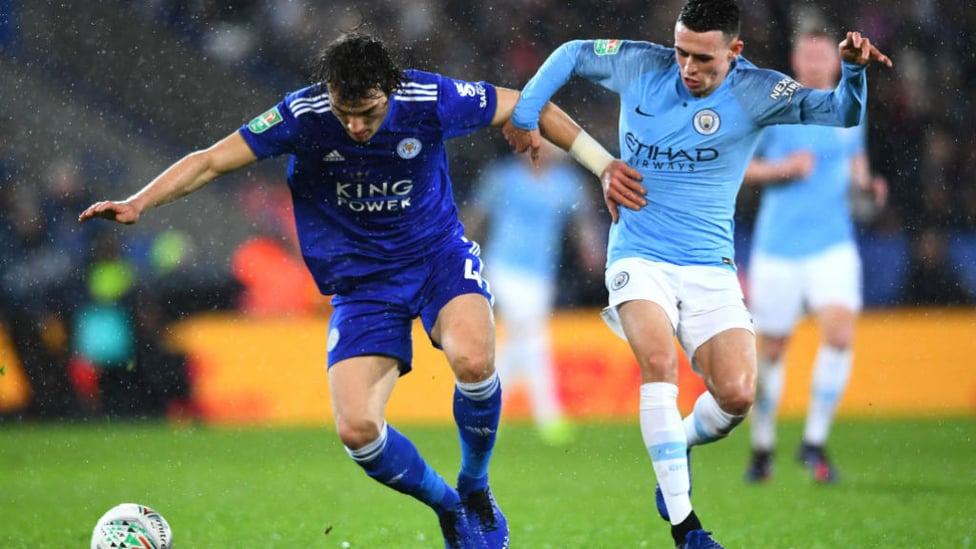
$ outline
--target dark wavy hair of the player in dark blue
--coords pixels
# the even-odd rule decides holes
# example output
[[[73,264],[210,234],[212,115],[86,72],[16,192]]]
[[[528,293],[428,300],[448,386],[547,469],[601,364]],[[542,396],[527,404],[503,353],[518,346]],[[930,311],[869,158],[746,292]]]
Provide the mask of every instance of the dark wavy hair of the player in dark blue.
[[[321,88],[331,85],[346,101],[364,99],[376,90],[391,96],[406,79],[386,45],[357,30],[326,46],[312,76]]]

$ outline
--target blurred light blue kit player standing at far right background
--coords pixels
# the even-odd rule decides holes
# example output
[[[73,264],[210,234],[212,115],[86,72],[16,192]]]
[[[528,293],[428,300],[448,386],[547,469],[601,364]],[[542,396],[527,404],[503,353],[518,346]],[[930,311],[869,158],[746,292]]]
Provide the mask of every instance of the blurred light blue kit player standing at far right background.
[[[800,85],[829,90],[840,76],[833,38],[804,33],[791,64]],[[798,459],[814,480],[833,482],[837,471],[824,445],[851,374],[851,343],[861,310],[861,260],[848,196],[851,185],[883,205],[888,186],[872,176],[865,127],[773,126],[766,130],[745,183],[762,185],[748,272],[749,306],[759,347],[752,458],[746,480],[773,470],[776,409],[783,394],[783,356],[797,321],[811,311],[820,328],[810,405]]]

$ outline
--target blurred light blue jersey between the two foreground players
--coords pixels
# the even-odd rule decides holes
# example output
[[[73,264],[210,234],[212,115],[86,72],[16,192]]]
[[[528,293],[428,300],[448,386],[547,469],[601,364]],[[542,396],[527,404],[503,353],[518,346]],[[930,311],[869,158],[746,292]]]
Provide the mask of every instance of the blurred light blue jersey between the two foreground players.
[[[588,208],[585,200],[582,178],[571,165],[536,169],[522,157],[489,165],[474,196],[488,216],[483,251],[489,269],[555,278],[563,231],[571,216]]]

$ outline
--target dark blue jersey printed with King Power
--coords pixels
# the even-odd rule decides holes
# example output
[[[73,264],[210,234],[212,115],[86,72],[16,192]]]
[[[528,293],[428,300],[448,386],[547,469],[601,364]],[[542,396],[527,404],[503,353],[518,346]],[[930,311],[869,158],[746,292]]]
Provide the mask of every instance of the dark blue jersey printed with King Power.
[[[491,124],[495,89],[417,70],[367,143],[310,86],[241,127],[259,158],[289,154],[302,255],[323,294],[418,261],[464,234],[444,141]]]

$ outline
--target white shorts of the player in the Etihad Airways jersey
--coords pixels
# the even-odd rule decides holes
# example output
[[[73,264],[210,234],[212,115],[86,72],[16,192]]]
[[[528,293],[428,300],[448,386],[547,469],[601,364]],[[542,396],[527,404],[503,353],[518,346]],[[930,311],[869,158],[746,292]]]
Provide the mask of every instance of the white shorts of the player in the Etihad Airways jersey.
[[[660,305],[681,348],[695,365],[695,351],[716,334],[732,328],[753,332],[735,271],[721,267],[678,266],[629,257],[613,262],[606,273],[609,306],[603,320],[627,339],[617,307],[643,299]]]

